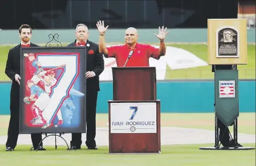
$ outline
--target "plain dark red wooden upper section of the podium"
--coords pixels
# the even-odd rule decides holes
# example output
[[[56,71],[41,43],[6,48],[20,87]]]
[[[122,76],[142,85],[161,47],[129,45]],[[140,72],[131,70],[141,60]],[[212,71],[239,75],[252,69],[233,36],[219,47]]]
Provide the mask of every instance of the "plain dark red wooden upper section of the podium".
[[[114,101],[148,101],[156,99],[156,68],[112,68]]]

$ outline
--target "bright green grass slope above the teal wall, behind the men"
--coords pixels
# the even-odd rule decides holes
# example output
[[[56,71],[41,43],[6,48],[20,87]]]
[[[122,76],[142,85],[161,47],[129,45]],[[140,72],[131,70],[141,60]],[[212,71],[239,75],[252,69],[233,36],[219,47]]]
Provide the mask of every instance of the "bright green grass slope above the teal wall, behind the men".
[[[159,43],[152,43],[158,45]],[[64,46],[65,44],[63,44]],[[167,44],[172,47],[182,48],[189,52],[194,53],[200,59],[208,61],[207,46],[205,44]],[[43,45],[42,45],[43,46]],[[0,81],[9,81],[5,74],[6,59],[9,49],[13,46],[0,46]],[[255,78],[255,45],[249,44],[248,51],[248,64],[239,65],[239,78],[251,79]],[[171,70],[167,67],[166,79],[211,79],[213,78],[212,69],[210,66],[197,67],[189,69]]]

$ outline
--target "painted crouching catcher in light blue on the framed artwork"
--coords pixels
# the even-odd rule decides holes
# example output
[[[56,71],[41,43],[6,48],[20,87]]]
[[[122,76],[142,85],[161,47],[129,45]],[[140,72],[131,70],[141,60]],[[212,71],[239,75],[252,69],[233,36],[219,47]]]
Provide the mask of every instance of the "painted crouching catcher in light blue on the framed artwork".
[[[23,101],[26,104],[30,104],[32,101],[34,101],[34,103],[31,106],[31,110],[34,115],[34,118],[32,119],[31,123],[46,123],[46,120],[42,116],[42,112],[44,108],[48,105],[50,97],[42,88],[40,88],[38,85],[35,85],[35,82],[32,80],[27,81],[27,90],[29,91],[30,96],[25,97]]]

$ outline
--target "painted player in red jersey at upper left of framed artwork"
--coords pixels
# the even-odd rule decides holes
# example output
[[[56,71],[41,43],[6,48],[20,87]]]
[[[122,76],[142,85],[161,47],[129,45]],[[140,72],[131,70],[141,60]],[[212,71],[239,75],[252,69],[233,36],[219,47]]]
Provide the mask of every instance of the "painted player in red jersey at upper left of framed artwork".
[[[31,80],[34,81],[35,84],[37,84],[41,80],[41,72],[43,72],[43,69],[33,53],[25,53],[24,56],[29,58],[29,70],[30,73],[33,75]]]

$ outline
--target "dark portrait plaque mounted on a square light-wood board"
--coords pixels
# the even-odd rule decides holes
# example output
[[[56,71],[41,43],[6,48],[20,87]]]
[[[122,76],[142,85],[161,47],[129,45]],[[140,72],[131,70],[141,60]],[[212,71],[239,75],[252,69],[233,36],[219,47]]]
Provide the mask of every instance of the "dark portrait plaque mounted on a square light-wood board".
[[[208,64],[247,64],[246,19],[208,19]]]

